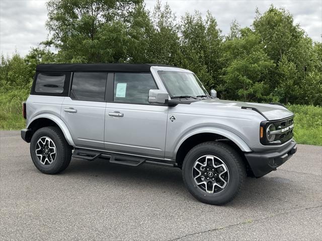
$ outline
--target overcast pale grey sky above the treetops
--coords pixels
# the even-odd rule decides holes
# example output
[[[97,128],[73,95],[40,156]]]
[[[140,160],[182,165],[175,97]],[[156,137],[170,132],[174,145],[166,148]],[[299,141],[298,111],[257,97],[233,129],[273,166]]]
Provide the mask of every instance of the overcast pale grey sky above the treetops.
[[[321,41],[322,34],[322,0],[168,0],[177,19],[186,12],[194,10],[205,16],[207,10],[216,18],[223,34],[229,32],[229,25],[236,19],[241,27],[250,26],[255,17],[255,9],[265,12],[271,4],[285,7],[294,16],[294,22],[299,23],[309,37]],[[145,1],[150,10],[155,5],[154,0]],[[30,47],[46,40],[48,31],[45,28],[47,19],[46,1],[43,0],[0,0],[0,51],[12,55],[15,50],[20,54],[28,53]]]

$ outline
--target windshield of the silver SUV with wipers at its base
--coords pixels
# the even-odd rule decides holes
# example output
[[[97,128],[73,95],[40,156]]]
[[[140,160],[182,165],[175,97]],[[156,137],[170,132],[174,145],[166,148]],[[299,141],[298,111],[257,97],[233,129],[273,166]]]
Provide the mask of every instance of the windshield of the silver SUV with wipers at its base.
[[[185,72],[158,71],[171,97],[208,95],[196,75]]]

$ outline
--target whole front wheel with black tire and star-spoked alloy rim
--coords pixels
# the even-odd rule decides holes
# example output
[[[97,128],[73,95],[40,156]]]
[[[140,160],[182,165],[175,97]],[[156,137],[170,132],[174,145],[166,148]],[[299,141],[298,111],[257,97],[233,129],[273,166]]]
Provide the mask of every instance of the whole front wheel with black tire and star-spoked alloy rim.
[[[239,154],[220,142],[205,142],[185,157],[183,180],[198,200],[213,205],[229,202],[243,186],[246,170]]]

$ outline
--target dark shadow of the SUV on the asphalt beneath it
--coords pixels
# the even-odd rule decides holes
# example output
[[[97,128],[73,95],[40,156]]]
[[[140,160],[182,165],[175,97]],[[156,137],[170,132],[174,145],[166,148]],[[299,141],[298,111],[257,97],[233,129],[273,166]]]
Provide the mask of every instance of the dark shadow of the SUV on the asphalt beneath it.
[[[89,162],[73,158],[70,166],[61,175],[72,175],[83,179],[98,178],[97,182],[100,184],[133,185],[137,189],[146,189],[146,195],[149,192],[160,191],[180,193],[186,200],[188,198],[189,201],[199,203],[185,188],[179,168],[147,164],[131,167],[109,163],[103,159]],[[282,203],[284,206],[285,203],[297,205],[294,198],[289,198],[298,195],[296,183],[287,178],[272,177],[272,174],[259,179],[248,177],[242,189],[235,199],[225,206],[251,209],[254,205],[258,208],[271,207],[273,203],[276,207]]]

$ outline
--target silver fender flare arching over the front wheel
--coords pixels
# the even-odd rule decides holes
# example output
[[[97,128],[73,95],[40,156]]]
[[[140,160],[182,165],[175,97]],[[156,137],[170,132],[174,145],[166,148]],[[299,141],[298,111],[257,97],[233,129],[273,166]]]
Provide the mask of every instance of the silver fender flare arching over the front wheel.
[[[228,130],[221,129],[221,128],[203,127],[203,128],[195,129],[192,132],[185,134],[180,139],[180,141],[176,145],[176,148],[174,151],[175,156],[177,155],[177,152],[178,152],[180,146],[182,145],[182,143],[184,143],[184,141],[186,141],[191,136],[194,136],[196,134],[201,134],[201,133],[213,133],[213,134],[221,135],[225,138],[228,138],[230,141],[232,141],[234,144],[236,144],[240,148],[241,151],[252,152],[251,148],[247,145],[247,143],[243,139],[241,139],[239,136],[237,136],[236,134],[234,134]]]

